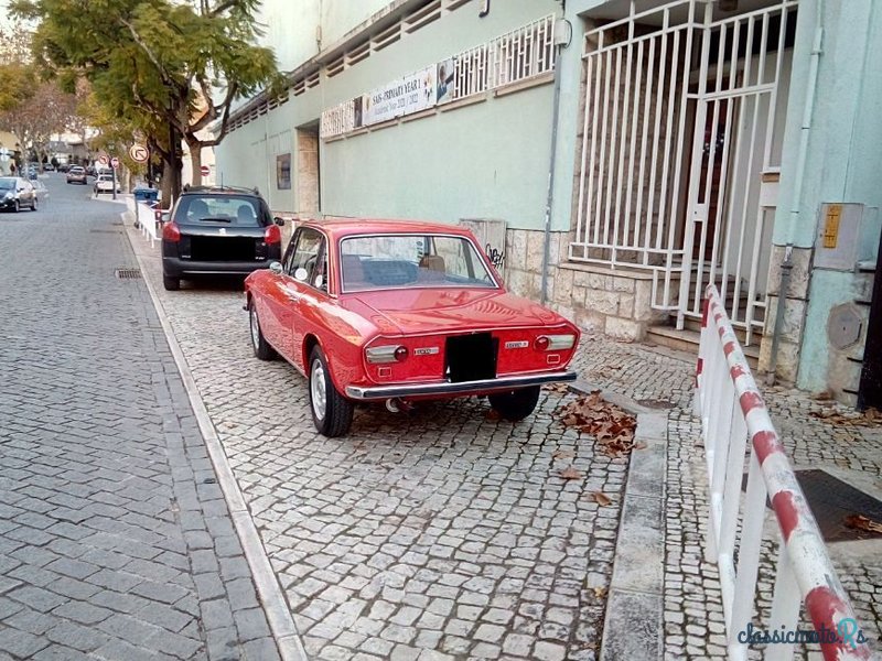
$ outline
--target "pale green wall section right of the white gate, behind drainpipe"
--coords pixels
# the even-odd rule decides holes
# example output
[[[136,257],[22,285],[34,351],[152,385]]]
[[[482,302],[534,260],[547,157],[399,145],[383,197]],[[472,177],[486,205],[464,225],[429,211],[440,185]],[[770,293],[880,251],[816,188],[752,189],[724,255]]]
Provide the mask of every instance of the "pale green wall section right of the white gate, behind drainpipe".
[[[806,0],[799,6],[792,111],[773,240],[776,245],[811,247],[821,204],[859,203],[867,206],[860,257],[868,259],[874,257],[879,241],[878,209],[882,205],[882,6],[875,0],[822,3],[822,54],[799,213],[790,214],[809,53],[817,24],[816,1]],[[853,272],[813,270],[799,355],[800,388],[817,391],[828,387],[827,319],[833,306],[854,301],[857,289]]]

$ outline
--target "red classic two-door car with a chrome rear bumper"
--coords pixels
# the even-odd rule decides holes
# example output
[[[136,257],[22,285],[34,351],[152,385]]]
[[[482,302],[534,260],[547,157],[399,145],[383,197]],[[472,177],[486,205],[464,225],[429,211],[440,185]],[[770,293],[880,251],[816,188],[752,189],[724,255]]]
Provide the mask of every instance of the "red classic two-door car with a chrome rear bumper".
[[[245,281],[255,355],[309,378],[315,426],[345,434],[359,401],[487,395],[502,418],[571,381],[579,329],[505,290],[466,229],[432,223],[301,224],[282,258]]]

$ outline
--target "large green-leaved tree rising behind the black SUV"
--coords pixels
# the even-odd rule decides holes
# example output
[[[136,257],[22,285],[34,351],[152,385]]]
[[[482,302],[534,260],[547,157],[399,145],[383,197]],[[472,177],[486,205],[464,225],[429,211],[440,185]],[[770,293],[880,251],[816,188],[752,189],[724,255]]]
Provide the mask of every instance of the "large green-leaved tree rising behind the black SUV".
[[[46,71],[67,80],[87,77],[107,112],[132,128],[149,127],[154,144],[171,142],[162,136],[168,127],[182,136],[198,184],[201,151],[224,139],[233,101],[281,83],[272,52],[255,45],[258,4],[13,0],[12,9],[39,21],[33,52]],[[218,121],[216,137],[203,139],[202,129]],[[166,171],[180,172],[179,159],[178,149],[166,148]]]

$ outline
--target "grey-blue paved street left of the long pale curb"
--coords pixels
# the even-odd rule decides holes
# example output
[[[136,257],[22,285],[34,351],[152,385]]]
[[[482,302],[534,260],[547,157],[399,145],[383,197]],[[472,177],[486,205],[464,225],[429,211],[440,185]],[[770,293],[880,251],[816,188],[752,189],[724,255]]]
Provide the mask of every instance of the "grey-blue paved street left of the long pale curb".
[[[0,659],[276,659],[120,205],[0,216]]]

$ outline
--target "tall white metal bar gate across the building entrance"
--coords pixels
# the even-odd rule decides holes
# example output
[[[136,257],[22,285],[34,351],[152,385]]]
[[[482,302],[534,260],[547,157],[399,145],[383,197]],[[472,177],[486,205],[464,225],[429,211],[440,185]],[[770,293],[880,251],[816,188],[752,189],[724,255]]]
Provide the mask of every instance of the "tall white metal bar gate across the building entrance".
[[[649,270],[653,307],[701,316],[717,284],[761,329],[796,0],[725,14],[679,0],[585,34],[584,121],[570,259]]]

